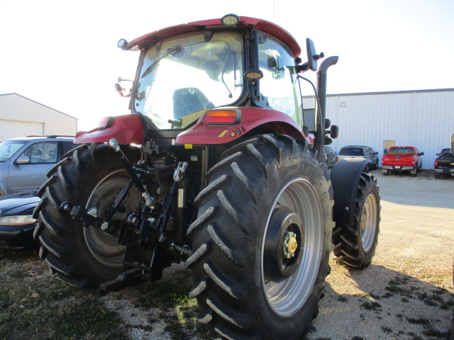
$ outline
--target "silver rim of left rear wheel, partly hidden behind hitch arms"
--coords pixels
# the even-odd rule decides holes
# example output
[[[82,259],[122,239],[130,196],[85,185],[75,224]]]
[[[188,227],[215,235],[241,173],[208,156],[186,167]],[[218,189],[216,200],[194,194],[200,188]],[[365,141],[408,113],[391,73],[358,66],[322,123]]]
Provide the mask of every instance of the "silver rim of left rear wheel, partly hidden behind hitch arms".
[[[108,211],[109,206],[114,203],[114,196],[121,192],[126,186],[129,178],[124,171],[115,171],[99,181],[92,191],[86,208],[97,208],[99,217],[103,217]],[[128,197],[123,201],[123,210],[131,211],[138,204],[138,189],[133,186]],[[87,247],[94,258],[110,267],[122,267],[125,246],[118,244],[118,239],[96,227],[84,227],[84,237]]]

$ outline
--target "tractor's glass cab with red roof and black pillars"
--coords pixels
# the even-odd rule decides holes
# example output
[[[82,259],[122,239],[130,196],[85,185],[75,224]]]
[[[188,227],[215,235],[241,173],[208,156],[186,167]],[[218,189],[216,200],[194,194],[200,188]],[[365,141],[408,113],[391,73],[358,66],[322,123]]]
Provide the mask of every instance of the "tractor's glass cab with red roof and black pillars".
[[[207,111],[207,124],[237,125],[247,112],[213,109],[255,107],[275,111],[263,113],[270,117],[267,121],[293,125],[291,135],[301,137],[301,50],[279,26],[228,15],[172,26],[129,43],[120,40],[118,45],[140,50],[131,109],[148,128],[174,130],[171,135],[176,136]],[[245,130],[254,127],[243,124]]]

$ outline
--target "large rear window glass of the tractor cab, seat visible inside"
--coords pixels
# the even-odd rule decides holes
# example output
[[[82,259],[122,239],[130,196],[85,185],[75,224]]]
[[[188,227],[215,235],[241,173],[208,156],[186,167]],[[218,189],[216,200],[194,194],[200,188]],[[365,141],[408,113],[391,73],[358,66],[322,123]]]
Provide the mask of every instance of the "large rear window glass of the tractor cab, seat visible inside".
[[[134,109],[160,129],[182,129],[243,89],[243,42],[233,31],[184,35],[154,45],[138,74]]]

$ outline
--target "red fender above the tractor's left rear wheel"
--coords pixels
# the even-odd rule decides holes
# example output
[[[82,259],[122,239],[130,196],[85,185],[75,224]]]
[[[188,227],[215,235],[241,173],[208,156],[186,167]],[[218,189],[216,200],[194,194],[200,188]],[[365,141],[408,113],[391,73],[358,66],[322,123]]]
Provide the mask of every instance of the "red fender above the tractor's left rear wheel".
[[[143,145],[143,124],[139,115],[118,115],[109,117],[105,127],[95,128],[88,132],[77,132],[74,144],[105,143],[115,138],[119,144]]]

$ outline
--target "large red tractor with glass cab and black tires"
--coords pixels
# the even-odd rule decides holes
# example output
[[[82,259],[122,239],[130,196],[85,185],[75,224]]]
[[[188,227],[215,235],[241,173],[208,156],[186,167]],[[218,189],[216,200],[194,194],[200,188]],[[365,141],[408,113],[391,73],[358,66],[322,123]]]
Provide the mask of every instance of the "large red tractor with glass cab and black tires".
[[[338,134],[326,74],[338,57],[321,64],[316,89],[300,75],[323,57],[311,40],[303,63],[286,30],[235,15],[118,47],[140,52],[131,92],[116,84],[132,114],[79,132],[49,172],[34,212],[40,256],[65,283],[104,290],[184,261],[214,338],[298,339],[331,251],[365,268],[379,232],[369,161],[326,166]],[[301,81],[314,88],[315,122],[303,120]]]

